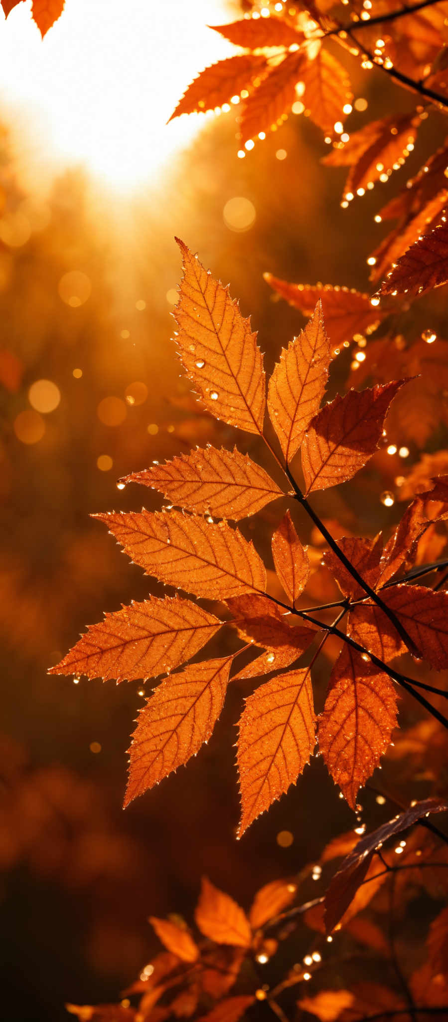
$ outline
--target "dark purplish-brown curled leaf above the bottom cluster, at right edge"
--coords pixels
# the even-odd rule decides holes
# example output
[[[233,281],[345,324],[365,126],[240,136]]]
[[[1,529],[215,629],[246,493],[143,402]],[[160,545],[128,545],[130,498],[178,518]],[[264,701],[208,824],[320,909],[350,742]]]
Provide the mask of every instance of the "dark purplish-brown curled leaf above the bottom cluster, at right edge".
[[[418,820],[424,819],[431,812],[444,812],[448,809],[448,802],[437,798],[427,798],[420,802],[414,802],[408,809],[399,812],[393,820],[388,820],[377,830],[371,831],[360,838],[353,851],[344,860],[338,873],[335,874],[326,894],[326,925],[328,932],[344,916],[350,902],[358,890],[359,885],[364,880],[367,871],[371,866],[371,860],[376,848],[381,847],[385,841],[399,834],[408,827],[412,827]],[[377,866],[372,864],[374,868]],[[380,863],[381,866],[381,863]],[[380,870],[378,871],[381,872]],[[383,875],[386,875],[384,871]],[[368,884],[366,887],[370,886]]]

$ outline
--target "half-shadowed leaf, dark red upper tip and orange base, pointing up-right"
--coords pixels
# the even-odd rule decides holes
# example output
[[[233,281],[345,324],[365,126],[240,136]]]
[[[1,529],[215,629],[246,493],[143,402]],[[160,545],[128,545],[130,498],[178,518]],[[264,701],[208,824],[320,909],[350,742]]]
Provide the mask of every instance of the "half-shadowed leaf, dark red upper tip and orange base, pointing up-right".
[[[392,399],[405,380],[349,390],[326,405],[302,444],[306,493],[346,482],[375,453]]]

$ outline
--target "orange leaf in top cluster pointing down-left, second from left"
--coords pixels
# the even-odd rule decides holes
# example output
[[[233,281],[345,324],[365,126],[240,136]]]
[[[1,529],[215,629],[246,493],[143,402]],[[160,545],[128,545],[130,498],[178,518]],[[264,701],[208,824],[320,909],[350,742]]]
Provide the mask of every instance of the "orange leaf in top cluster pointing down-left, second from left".
[[[302,78],[306,63],[303,53],[288,53],[281,63],[266,75],[246,100],[241,131],[243,141],[256,139],[261,131],[270,131],[297,98],[296,83]]]

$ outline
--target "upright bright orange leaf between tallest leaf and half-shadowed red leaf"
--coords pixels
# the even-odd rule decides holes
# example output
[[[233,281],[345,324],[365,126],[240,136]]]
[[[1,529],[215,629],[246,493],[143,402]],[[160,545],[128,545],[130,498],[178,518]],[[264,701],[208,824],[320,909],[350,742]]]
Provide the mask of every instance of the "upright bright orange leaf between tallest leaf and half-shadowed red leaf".
[[[319,408],[331,360],[322,308],[299,337],[283,349],[269,379],[267,408],[286,461],[298,451],[306,427]]]

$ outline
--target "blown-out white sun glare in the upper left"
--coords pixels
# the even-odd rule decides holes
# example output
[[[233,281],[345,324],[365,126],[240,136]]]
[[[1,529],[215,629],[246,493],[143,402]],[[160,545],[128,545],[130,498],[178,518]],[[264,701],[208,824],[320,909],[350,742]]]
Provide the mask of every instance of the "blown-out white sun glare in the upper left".
[[[215,0],[213,21],[229,15]],[[166,122],[198,71],[233,52],[209,20],[207,0],[65,0],[42,41],[31,0],[0,13],[2,119],[30,177],[76,165],[129,189],[186,148],[204,115]]]

